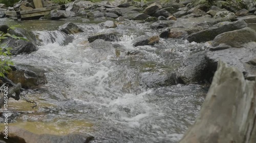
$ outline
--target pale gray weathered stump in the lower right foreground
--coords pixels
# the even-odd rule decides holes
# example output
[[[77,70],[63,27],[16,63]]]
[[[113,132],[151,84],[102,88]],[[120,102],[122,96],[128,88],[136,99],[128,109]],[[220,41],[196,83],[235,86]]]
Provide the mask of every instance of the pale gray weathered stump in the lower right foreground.
[[[256,142],[255,81],[219,63],[200,113],[179,143]]]

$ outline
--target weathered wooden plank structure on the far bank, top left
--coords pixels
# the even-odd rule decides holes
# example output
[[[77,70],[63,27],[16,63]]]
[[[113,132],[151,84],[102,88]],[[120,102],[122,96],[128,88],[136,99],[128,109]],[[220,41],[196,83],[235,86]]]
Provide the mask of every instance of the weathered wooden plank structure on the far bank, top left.
[[[7,17],[15,20],[28,19],[32,17],[44,16],[51,12],[51,10],[60,9],[66,10],[65,5],[45,7],[43,8],[41,0],[33,0],[35,9],[22,10],[22,11],[5,11]]]

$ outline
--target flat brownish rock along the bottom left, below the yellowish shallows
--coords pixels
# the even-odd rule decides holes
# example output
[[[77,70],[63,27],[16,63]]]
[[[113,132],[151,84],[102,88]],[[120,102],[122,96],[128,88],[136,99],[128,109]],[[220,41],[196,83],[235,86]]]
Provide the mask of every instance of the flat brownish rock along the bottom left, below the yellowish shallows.
[[[34,134],[25,129],[20,129],[15,126],[8,128],[8,142],[23,142],[23,143],[84,143],[90,142],[94,137],[87,134],[68,134],[68,135],[52,135],[52,134]],[[4,132],[1,132],[1,138],[4,138]]]

